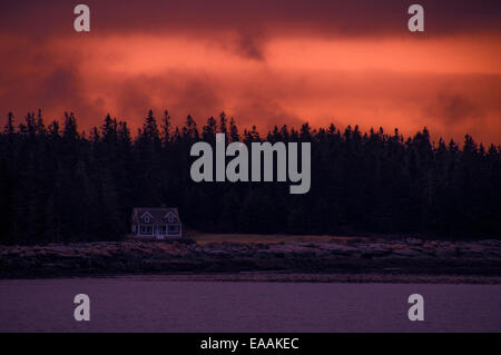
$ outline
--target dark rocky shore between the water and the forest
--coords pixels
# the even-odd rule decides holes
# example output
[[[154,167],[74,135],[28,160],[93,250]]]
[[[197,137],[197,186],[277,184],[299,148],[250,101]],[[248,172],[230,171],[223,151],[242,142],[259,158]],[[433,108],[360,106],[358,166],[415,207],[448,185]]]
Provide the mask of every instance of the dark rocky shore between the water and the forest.
[[[278,282],[287,279],[284,275],[294,274],[303,275],[305,280],[318,278],[321,282],[346,279],[346,275],[355,282],[364,280],[356,275],[380,275],[377,277],[389,279],[430,275],[469,279],[478,276],[498,283],[501,241],[353,238],[266,244],[128,240],[0,246],[0,278],[253,273],[262,275],[258,277],[262,280],[266,279],[263,275],[282,275],[269,277]]]

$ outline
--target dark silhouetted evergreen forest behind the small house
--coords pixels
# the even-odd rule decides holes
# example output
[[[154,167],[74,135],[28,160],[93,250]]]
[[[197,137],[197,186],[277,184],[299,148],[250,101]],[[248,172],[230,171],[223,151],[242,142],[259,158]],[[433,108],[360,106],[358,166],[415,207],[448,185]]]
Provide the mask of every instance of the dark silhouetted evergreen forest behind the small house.
[[[196,184],[193,144],[312,142],[312,188],[289,195],[283,183]],[[184,226],[259,234],[421,234],[500,237],[501,146],[469,135],[460,145],[431,140],[426,128],[357,126],[240,130],[224,112],[198,126],[174,126],[149,111],[132,135],[108,115],[81,131],[73,114],[46,125],[42,112],[20,122],[9,112],[0,132],[0,244],[119,240],[134,207],[178,207]]]

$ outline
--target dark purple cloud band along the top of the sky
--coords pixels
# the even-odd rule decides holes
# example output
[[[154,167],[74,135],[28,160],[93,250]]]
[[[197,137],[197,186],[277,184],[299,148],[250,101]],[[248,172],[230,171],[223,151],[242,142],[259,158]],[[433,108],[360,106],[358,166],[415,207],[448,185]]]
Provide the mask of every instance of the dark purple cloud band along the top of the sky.
[[[407,33],[402,0],[87,0],[92,34],[159,31],[208,36],[218,31],[266,36],[377,36]],[[499,0],[421,0],[426,31],[431,34],[499,31]],[[3,1],[0,31],[32,37],[73,34],[72,8],[60,0]],[[246,38],[255,37],[252,31]]]

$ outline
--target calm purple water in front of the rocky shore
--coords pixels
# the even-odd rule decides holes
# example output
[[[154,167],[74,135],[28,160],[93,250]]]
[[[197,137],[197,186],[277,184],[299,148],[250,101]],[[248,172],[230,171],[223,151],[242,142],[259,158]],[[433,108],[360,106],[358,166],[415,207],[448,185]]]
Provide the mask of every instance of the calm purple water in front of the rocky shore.
[[[90,297],[76,322],[73,297]],[[424,296],[424,322],[407,298]],[[501,332],[501,285],[0,280],[0,332]]]

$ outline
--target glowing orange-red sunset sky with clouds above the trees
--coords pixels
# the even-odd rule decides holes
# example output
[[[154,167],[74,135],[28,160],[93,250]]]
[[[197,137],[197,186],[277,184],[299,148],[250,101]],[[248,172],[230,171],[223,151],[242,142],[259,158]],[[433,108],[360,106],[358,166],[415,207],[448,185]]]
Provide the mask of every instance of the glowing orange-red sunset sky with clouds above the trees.
[[[90,33],[73,8],[91,11]],[[407,30],[407,8],[425,32]],[[501,1],[2,1],[0,114],[399,127],[501,144]]]

